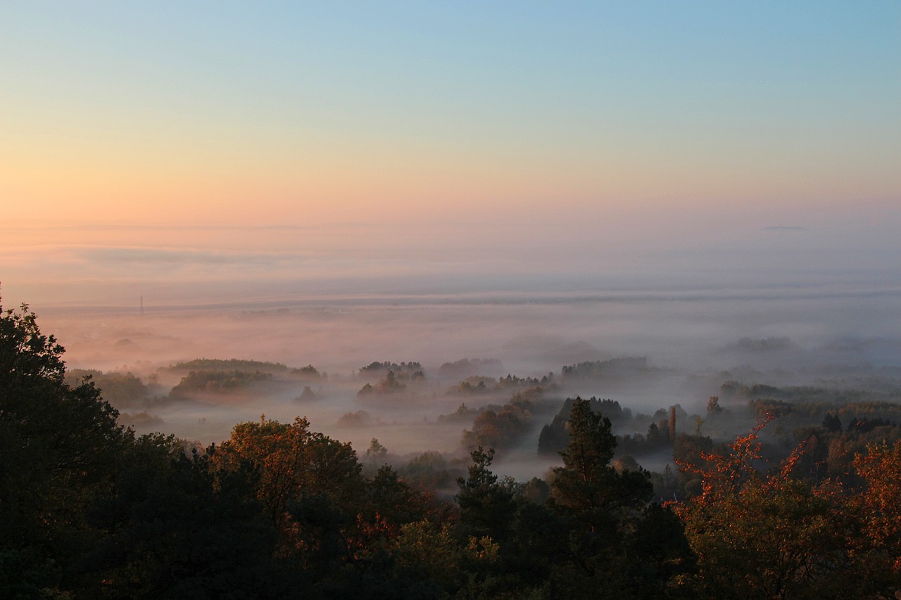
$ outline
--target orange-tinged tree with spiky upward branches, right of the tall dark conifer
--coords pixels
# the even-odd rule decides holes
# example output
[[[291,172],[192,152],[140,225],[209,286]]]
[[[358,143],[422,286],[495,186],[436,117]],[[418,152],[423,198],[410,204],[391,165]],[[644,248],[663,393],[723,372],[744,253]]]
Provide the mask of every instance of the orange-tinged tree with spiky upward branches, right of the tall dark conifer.
[[[850,548],[833,499],[791,477],[803,448],[778,471],[760,474],[758,423],[728,454],[701,453],[705,466],[680,463],[701,477],[702,492],[675,506],[698,561],[698,592],[729,598],[840,598]],[[851,596],[849,595],[851,594]]]

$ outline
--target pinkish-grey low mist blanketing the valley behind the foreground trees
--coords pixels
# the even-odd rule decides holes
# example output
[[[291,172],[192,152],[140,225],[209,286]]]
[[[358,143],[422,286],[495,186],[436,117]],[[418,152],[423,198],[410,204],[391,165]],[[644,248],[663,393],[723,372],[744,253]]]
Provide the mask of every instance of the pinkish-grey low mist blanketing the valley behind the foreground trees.
[[[673,405],[692,415],[678,422],[679,431],[703,431],[698,420],[708,399],[730,380],[901,387],[901,293],[891,286],[854,292],[678,287],[243,303],[211,298],[194,306],[149,297],[142,310],[137,303],[127,310],[34,308],[44,331],[66,346],[69,369],[102,371],[106,386],[113,385],[110,374],[140,379],[141,397],[117,400],[104,390],[137,432],[209,443],[263,414],[282,422],[301,415],[315,431],[350,441],[361,457],[378,439],[398,461],[432,450],[465,459],[464,431],[473,430],[480,409],[515,408],[523,423],[495,464],[500,474],[522,480],[559,464],[554,454],[537,453],[538,433],[575,395],[609,398],[647,415],[614,427],[634,434]],[[195,359],[276,367],[219,364],[218,379],[191,387],[186,376],[205,369],[178,363]],[[367,369],[373,363],[385,368]],[[571,368],[579,363],[603,363],[607,370],[574,377]],[[395,380],[386,380],[388,370]],[[103,388],[104,378],[96,380]],[[542,387],[540,396],[517,405],[514,396],[532,386]],[[726,429],[742,432],[753,424],[738,419]],[[645,462],[660,469],[670,461],[661,455]]]

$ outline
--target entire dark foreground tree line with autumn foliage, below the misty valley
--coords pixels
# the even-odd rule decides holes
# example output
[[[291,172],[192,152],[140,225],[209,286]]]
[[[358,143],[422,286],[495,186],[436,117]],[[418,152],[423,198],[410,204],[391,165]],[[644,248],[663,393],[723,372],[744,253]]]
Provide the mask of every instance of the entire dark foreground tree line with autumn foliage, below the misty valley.
[[[497,477],[494,450],[477,446],[455,497],[440,500],[414,485],[412,467],[379,465],[378,441],[361,462],[300,417],[238,423],[206,448],[136,436],[91,381],[67,380],[62,354],[27,307],[0,313],[0,597],[887,598],[901,589],[901,442],[869,442],[842,461],[833,445],[860,448],[864,434],[833,418],[772,468],[761,462],[769,417],[725,446],[682,433],[670,442],[694,487],[657,504],[651,474],[614,461],[613,423],[597,410],[613,404],[574,398],[562,464],[546,480]],[[440,463],[427,453],[417,465],[435,474]]]

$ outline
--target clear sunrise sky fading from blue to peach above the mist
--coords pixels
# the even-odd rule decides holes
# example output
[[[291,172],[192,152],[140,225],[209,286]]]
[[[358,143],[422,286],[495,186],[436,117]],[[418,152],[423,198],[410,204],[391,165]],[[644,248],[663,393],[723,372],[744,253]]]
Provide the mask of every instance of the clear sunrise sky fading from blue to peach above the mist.
[[[898,285],[899,32],[895,1],[5,2],[0,292]]]

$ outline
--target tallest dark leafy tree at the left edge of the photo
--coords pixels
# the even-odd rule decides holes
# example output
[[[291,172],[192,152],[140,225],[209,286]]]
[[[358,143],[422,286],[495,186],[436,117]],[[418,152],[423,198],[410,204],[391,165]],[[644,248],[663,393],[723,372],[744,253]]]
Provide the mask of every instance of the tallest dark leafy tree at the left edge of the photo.
[[[92,540],[84,509],[132,439],[90,381],[66,383],[64,351],[27,305],[0,307],[0,582],[60,585]]]

